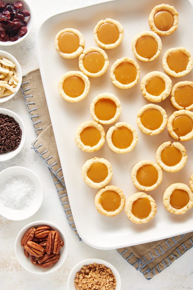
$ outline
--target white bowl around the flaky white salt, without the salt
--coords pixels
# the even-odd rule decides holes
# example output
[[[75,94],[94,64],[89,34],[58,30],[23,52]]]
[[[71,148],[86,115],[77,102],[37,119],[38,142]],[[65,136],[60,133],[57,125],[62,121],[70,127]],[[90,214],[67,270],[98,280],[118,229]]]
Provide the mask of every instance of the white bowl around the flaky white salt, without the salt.
[[[2,217],[7,218],[8,220],[11,220],[11,221],[22,221],[27,218],[30,218],[39,210],[43,202],[44,190],[43,190],[42,182],[32,170],[25,167],[13,166],[13,167],[8,167],[2,170],[0,172],[0,188],[2,188],[2,185],[6,181],[10,179],[15,179],[17,181],[18,177],[21,178],[20,176],[26,176],[28,179],[30,179],[31,181],[30,184],[34,185],[33,199],[31,200],[29,206],[26,206],[22,209],[15,209],[17,207],[13,208],[11,199],[10,199],[10,205],[12,205],[12,207],[6,206],[5,202],[4,202],[5,205],[3,204],[2,199],[1,199],[2,193],[0,193],[0,214],[2,215]],[[6,186],[8,187],[8,183],[6,184]],[[19,191],[19,190],[20,188],[15,187],[15,191]],[[19,192],[18,192],[18,195],[19,195]]]

